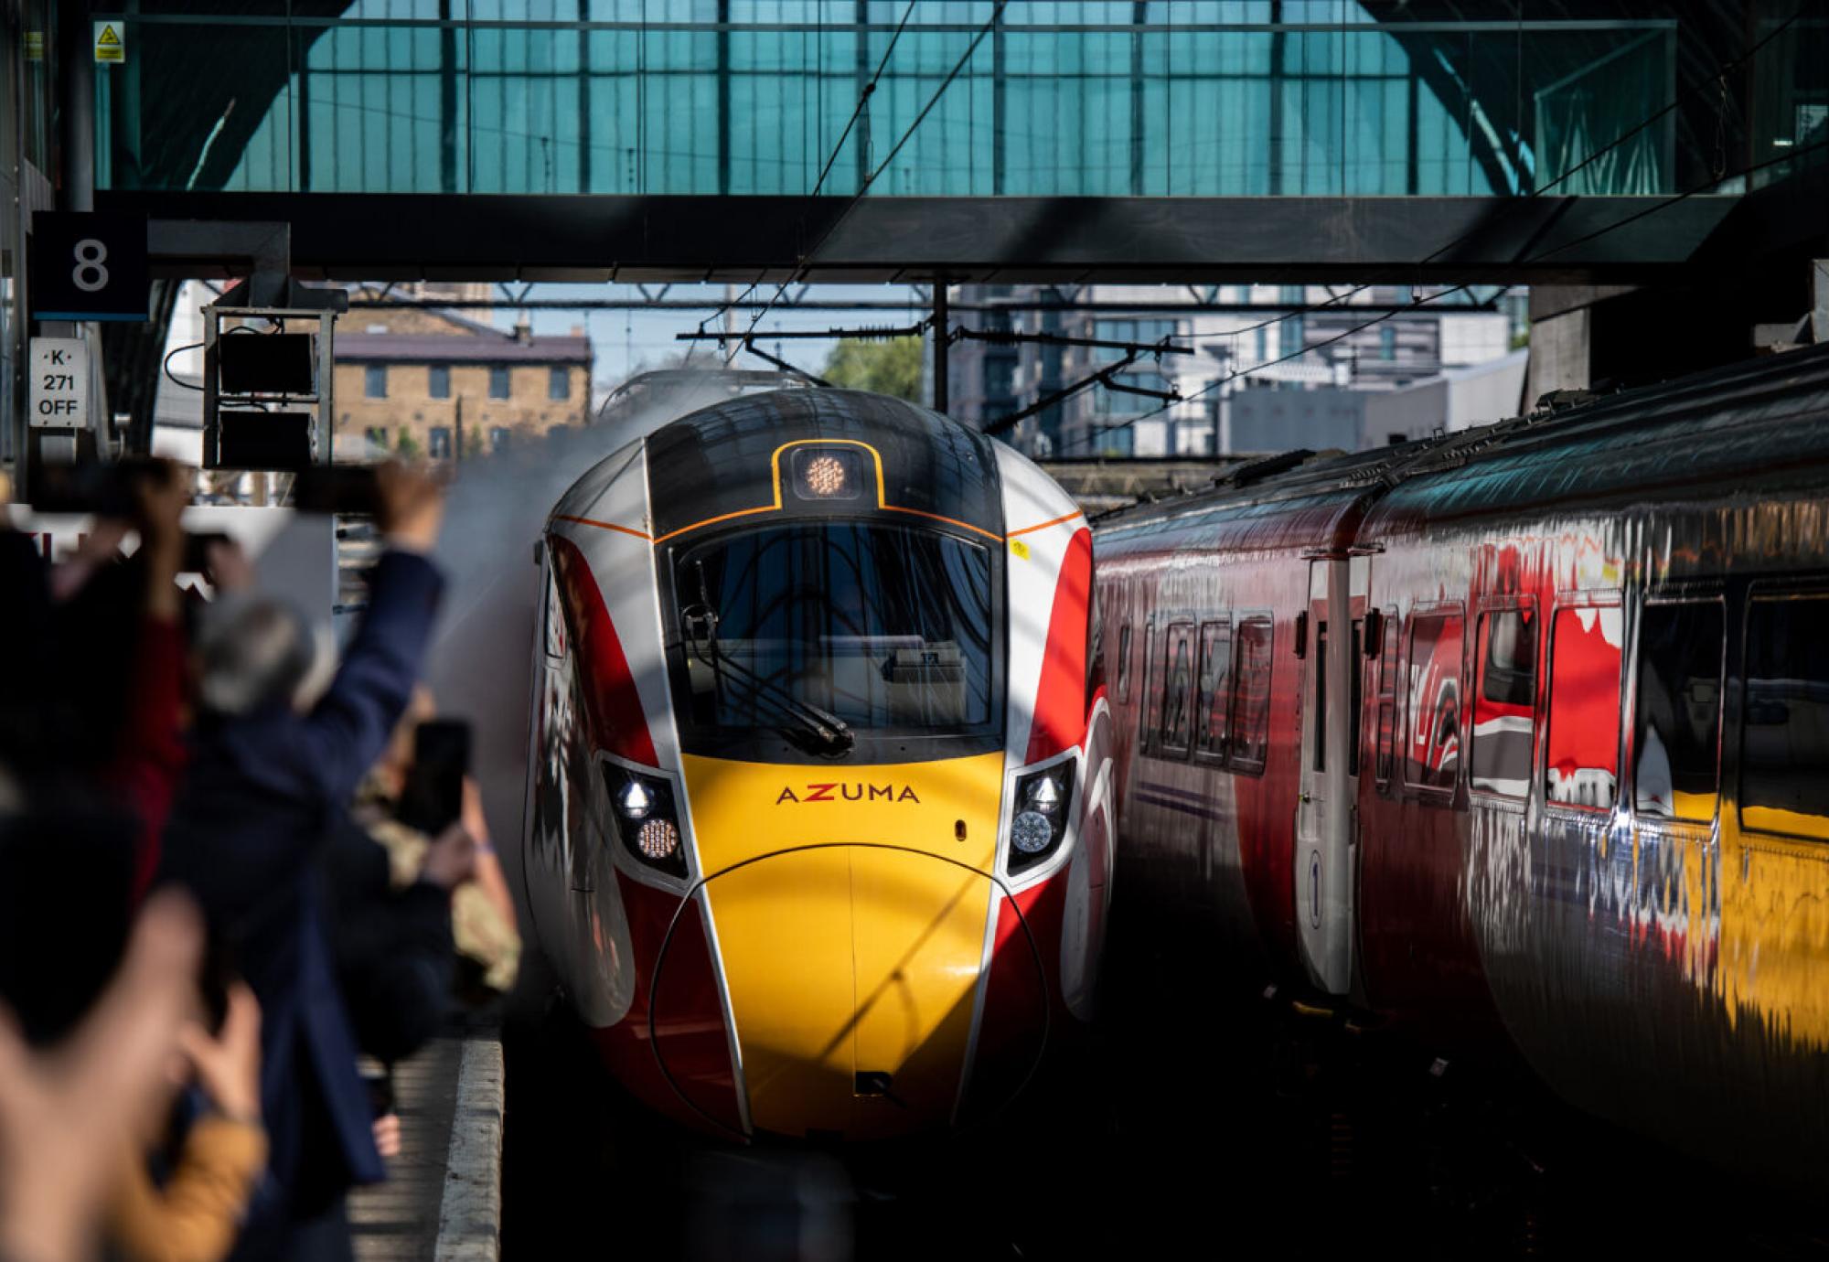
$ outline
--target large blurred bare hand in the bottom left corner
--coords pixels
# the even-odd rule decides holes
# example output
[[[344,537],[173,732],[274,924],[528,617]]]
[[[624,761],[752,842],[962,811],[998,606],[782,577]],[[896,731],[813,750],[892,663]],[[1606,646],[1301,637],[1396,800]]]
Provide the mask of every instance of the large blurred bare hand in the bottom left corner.
[[[0,1255],[90,1255],[121,1154],[165,1099],[201,955],[190,902],[155,894],[113,982],[60,1046],[35,1052],[0,1015]]]

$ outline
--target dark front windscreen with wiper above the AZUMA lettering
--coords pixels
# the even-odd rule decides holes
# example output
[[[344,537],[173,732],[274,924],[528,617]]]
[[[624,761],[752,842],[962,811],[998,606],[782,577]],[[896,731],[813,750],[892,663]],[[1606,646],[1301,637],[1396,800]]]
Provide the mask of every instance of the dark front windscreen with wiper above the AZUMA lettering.
[[[673,598],[682,728],[699,735],[799,733],[834,754],[860,735],[984,733],[1000,719],[979,543],[832,518],[763,527],[677,552]]]

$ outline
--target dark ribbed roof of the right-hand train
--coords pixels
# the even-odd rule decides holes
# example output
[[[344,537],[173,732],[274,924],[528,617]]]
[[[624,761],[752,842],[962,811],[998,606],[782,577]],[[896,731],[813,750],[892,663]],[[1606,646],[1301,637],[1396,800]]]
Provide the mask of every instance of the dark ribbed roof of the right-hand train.
[[[1213,490],[1107,514],[1099,530],[1114,541],[1193,530],[1213,536],[1202,540],[1209,547],[1225,547],[1225,536],[1275,547],[1284,534],[1315,543],[1317,529],[1361,516],[1390,529],[1697,485],[1756,483],[1763,496],[1820,487],[1829,346],[1390,448],[1295,455],[1288,468],[1255,476],[1258,461],[1227,470]]]

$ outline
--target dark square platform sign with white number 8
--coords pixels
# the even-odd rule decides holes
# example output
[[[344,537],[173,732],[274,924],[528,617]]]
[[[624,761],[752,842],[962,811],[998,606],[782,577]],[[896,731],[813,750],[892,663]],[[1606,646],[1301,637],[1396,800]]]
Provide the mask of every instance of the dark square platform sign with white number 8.
[[[144,320],[146,221],[40,210],[27,282],[35,320]]]

